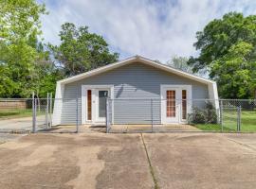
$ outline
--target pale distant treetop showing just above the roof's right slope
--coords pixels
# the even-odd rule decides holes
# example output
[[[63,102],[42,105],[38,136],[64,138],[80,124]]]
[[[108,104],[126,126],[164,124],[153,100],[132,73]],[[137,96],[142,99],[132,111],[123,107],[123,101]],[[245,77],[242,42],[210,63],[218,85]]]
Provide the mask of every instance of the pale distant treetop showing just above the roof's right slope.
[[[192,73],[192,66],[188,64],[188,58],[186,57],[174,57],[172,60],[169,60],[167,64],[178,70],[184,72]]]

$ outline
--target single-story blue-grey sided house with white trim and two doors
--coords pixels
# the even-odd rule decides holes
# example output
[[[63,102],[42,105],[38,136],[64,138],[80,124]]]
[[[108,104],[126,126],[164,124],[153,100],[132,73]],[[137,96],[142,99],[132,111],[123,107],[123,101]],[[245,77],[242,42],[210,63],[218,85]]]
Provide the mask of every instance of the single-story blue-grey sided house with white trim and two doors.
[[[219,108],[214,81],[135,56],[59,80],[53,125],[103,124],[107,97],[112,124],[186,123],[192,106],[203,106],[195,99]]]

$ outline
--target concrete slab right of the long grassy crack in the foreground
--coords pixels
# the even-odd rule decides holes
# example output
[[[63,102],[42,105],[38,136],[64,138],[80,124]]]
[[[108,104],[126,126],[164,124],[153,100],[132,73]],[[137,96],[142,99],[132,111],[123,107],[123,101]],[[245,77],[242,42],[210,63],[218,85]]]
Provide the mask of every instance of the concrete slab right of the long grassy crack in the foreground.
[[[160,188],[256,188],[256,150],[230,141],[232,135],[143,136]],[[241,138],[255,143],[256,135],[248,136]]]

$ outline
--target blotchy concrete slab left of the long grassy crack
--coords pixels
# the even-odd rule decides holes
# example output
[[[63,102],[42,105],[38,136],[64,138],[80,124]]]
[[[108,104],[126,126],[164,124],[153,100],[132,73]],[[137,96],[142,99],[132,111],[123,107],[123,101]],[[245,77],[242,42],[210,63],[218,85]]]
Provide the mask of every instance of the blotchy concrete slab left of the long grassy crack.
[[[141,138],[30,134],[0,145],[0,188],[153,188]]]

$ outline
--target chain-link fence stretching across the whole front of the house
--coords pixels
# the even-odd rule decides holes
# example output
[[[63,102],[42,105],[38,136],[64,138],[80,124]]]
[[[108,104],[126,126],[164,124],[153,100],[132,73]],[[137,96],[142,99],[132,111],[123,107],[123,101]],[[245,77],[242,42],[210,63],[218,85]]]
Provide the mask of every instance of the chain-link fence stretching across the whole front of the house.
[[[85,128],[105,132],[255,132],[256,100],[106,98],[101,105],[91,102],[88,106],[81,98],[0,99],[0,132],[79,132],[88,130]]]

